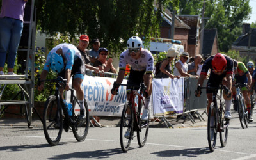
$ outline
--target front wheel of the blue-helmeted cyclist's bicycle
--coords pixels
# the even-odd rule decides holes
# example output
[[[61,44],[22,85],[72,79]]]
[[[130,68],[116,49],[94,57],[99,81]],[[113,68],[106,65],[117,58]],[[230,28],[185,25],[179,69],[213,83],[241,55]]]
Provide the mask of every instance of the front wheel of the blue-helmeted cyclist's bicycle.
[[[58,145],[63,129],[63,116],[55,95],[49,96],[45,102],[43,127],[49,145]]]

